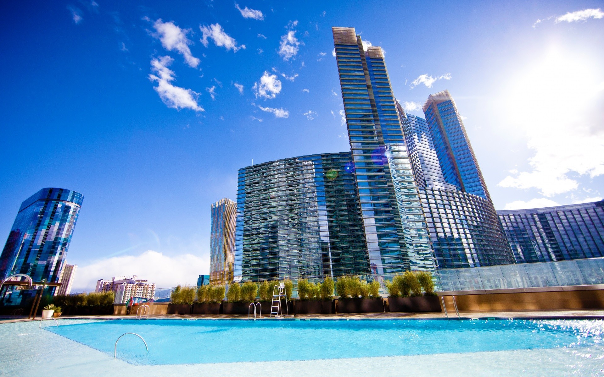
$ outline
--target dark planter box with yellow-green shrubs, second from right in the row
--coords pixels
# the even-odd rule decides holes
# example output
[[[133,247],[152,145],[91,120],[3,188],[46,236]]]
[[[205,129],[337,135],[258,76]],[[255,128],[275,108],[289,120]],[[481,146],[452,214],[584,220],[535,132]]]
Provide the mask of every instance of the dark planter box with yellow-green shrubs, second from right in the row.
[[[384,300],[379,295],[379,282],[367,282],[358,277],[342,276],[336,281],[339,313],[384,312]]]

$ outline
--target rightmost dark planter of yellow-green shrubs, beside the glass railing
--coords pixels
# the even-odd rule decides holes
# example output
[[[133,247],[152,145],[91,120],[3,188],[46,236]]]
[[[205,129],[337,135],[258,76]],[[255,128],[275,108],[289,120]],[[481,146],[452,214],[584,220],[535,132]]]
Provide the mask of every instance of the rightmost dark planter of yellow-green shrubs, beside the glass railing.
[[[439,297],[434,293],[432,275],[427,271],[405,271],[402,275],[394,276],[386,287],[390,293],[388,309],[391,312],[441,311]]]

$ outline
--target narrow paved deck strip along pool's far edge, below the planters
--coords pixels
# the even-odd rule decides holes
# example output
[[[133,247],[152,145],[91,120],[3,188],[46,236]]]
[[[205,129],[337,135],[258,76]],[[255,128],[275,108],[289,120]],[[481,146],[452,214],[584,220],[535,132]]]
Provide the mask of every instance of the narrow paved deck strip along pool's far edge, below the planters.
[[[556,311],[501,311],[501,312],[464,312],[460,311],[460,318],[471,320],[472,318],[479,319],[509,319],[509,318],[526,318],[526,319],[604,319],[604,310],[556,310]],[[134,315],[72,315],[59,317],[58,319],[135,319]],[[162,314],[149,315],[148,318],[153,319],[247,319],[247,315],[234,314],[217,314],[217,315],[198,315],[198,314]],[[268,319],[263,316],[262,319]],[[288,319],[446,319],[445,313],[429,312],[429,313],[403,313],[403,312],[384,312],[384,313],[338,313],[338,314],[296,314]],[[36,320],[39,320],[37,317]],[[449,319],[457,319],[455,313],[449,313]],[[14,318],[13,316],[0,316],[2,323],[24,322],[28,321],[27,317]]]

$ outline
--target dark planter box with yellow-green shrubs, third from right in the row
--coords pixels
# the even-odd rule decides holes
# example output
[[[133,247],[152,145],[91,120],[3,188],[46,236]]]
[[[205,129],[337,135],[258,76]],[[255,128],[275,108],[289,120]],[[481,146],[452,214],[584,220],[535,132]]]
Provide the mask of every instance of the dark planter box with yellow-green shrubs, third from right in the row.
[[[307,279],[298,280],[298,300],[295,303],[297,314],[320,313],[333,314],[333,279],[326,277],[323,283],[313,284]]]

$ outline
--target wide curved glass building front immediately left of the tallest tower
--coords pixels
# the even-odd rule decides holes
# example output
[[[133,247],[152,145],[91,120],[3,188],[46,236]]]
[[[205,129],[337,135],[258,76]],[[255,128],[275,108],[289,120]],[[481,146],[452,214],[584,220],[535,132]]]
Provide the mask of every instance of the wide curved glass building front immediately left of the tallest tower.
[[[350,153],[239,169],[235,280],[368,275]]]

